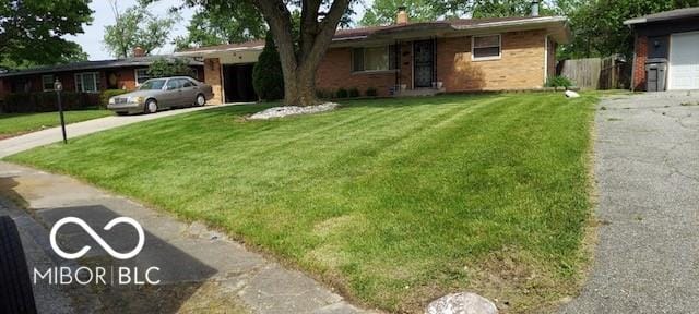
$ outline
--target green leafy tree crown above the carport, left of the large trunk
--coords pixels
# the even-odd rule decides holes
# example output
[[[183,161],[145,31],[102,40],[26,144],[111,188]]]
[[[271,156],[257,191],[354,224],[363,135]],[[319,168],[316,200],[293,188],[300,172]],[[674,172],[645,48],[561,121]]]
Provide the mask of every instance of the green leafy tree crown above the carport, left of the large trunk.
[[[175,39],[177,49],[242,43],[260,39],[266,33],[262,14],[250,3],[212,3],[199,8],[187,26],[187,36]]]

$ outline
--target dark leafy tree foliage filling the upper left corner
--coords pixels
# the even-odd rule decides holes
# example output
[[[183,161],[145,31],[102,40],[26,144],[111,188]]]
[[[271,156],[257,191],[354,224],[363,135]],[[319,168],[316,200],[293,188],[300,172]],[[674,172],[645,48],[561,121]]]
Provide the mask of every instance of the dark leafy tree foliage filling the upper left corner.
[[[0,1],[0,64],[54,64],[83,58],[64,35],[83,33],[92,22],[90,0]],[[15,67],[8,67],[15,68]]]

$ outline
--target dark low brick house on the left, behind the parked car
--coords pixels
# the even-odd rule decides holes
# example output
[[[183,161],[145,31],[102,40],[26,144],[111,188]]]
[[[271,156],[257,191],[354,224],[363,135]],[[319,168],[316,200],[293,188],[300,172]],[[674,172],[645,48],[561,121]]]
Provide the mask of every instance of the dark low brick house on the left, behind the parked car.
[[[116,60],[83,61],[21,71],[0,72],[0,100],[12,93],[54,90],[58,78],[66,92],[99,93],[105,89],[134,89],[149,80],[149,65],[155,60],[173,57],[152,56]],[[189,60],[196,78],[203,81],[203,63]]]

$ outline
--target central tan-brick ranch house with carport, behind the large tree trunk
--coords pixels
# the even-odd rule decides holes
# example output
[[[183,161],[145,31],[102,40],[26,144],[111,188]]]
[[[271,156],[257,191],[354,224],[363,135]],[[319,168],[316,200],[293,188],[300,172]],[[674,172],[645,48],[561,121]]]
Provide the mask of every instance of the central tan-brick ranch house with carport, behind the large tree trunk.
[[[525,16],[411,23],[405,10],[388,26],[340,29],[316,87],[364,95],[429,95],[540,89],[555,75],[556,46],[570,37],[566,17]],[[204,78],[222,102],[257,100],[252,67],[264,41],[202,47],[176,56],[204,60]]]

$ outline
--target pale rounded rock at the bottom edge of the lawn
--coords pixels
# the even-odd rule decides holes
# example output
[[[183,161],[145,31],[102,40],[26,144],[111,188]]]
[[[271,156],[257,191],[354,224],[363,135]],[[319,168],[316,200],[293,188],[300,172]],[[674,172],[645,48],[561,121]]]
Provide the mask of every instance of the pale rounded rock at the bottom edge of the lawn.
[[[451,293],[427,305],[427,314],[497,314],[498,307],[488,299],[470,292]]]

